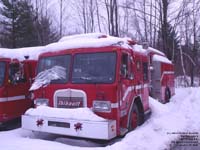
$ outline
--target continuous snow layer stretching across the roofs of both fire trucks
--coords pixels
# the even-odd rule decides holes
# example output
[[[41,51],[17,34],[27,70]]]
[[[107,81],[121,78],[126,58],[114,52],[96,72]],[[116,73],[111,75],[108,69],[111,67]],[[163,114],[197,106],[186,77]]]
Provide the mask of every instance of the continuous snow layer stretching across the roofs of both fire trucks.
[[[56,52],[77,48],[97,48],[112,45],[121,46],[124,48],[131,48],[134,51],[143,53],[145,55],[148,54],[149,51],[154,51],[157,54],[164,55],[164,53],[153,48],[148,48],[148,50],[145,50],[142,48],[141,45],[136,44],[130,38],[119,38],[103,33],[88,33],[65,36],[61,38],[58,42],[51,43],[46,46],[17,49],[0,48],[0,56],[17,58],[19,60],[24,60],[24,56],[29,56],[30,59],[37,60],[39,55],[45,52]]]

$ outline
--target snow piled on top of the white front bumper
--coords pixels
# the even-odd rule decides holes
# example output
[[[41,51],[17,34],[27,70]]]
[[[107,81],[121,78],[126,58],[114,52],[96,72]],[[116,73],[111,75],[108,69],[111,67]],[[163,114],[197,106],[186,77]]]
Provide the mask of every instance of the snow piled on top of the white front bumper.
[[[31,108],[25,112],[26,115],[43,116],[43,117],[58,117],[66,119],[81,119],[87,121],[105,121],[104,118],[97,116],[89,108],[51,108],[48,106],[39,106]]]

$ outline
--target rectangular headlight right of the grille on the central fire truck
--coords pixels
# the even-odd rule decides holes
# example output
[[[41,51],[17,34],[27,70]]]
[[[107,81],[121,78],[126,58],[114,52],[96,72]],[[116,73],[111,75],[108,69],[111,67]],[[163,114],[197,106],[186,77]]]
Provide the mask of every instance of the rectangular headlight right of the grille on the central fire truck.
[[[93,111],[111,112],[111,104],[109,101],[93,101]]]

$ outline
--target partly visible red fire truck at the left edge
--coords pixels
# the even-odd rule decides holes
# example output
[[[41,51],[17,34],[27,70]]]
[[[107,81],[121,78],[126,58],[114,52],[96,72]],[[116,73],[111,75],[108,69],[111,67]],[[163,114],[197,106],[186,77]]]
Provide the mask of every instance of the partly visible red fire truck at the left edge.
[[[32,106],[29,88],[36,61],[0,57],[0,125],[21,117]]]

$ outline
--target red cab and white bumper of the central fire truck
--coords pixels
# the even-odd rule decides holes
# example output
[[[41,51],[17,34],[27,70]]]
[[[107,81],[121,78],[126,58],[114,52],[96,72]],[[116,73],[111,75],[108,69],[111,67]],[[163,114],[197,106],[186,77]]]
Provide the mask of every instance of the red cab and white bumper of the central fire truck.
[[[55,45],[58,51],[40,55],[38,75],[54,66],[65,68],[66,75],[36,89],[34,104],[54,109],[88,107],[105,120],[25,114],[22,128],[108,140],[141,125],[150,114],[149,55],[135,51],[135,42],[127,39],[105,35],[88,41],[72,39],[74,43],[66,41]]]

